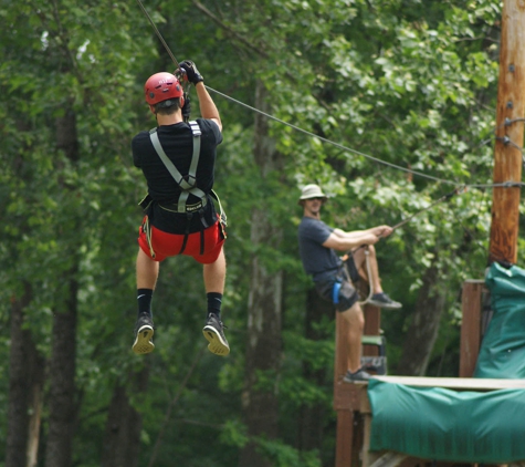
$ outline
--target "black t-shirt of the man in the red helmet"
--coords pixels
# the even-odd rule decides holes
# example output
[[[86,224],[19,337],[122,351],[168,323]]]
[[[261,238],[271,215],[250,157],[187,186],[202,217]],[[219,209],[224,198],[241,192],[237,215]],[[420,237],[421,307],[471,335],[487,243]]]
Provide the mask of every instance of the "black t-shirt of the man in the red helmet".
[[[204,208],[204,220],[208,225],[217,221],[214,205],[209,196],[213,188],[217,146],[222,142],[219,126],[211,120],[198,118],[202,132],[200,136],[200,157],[197,167],[197,187],[208,195]],[[161,125],[157,134],[164,152],[182,176],[188,175],[193,154],[193,134],[187,123]],[[162,205],[176,204],[181,193],[169,170],[155,151],[149,132],[140,132],[132,142],[133,162],[143,170],[148,184],[148,193],[154,203],[148,212],[149,220],[156,228],[169,234],[196,232],[202,229],[199,214],[193,214],[191,220],[183,212],[171,212],[162,209]],[[187,203],[196,204],[199,198],[190,195]],[[188,225],[189,221],[189,225]]]

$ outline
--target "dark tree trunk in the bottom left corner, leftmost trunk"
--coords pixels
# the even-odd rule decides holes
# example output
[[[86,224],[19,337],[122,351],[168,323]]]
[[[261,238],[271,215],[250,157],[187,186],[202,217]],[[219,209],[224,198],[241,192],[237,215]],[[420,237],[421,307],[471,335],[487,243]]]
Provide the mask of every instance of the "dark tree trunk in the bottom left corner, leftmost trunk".
[[[8,439],[6,467],[34,467],[40,439],[44,361],[39,355],[31,332],[23,328],[24,309],[32,291],[11,304],[11,353],[9,372]]]

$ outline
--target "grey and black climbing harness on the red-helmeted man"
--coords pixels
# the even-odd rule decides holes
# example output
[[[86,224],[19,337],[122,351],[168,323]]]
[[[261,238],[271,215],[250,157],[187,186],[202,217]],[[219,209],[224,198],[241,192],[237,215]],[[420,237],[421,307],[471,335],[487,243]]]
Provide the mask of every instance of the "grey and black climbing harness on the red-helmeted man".
[[[168,172],[170,173],[171,177],[176,181],[176,184],[180,187],[181,193],[179,195],[179,198],[177,203],[174,204],[162,204],[159,203],[159,207],[161,209],[168,210],[170,212],[178,212],[178,214],[183,214],[186,212],[188,217],[188,222],[187,222],[187,230],[185,232],[185,239],[182,241],[182,246],[180,247],[180,251],[178,255],[181,255],[185,249],[186,249],[186,243],[188,241],[188,236],[189,236],[189,225],[190,220],[193,217],[193,214],[199,214],[200,220],[202,224],[202,228],[200,229],[200,255],[204,253],[204,229],[210,227],[208,222],[204,219],[204,207],[208,204],[208,196],[204,191],[202,191],[200,188],[197,187],[197,167],[199,165],[199,158],[200,158],[200,136],[202,134],[199,124],[196,121],[188,122],[188,125],[191,129],[192,136],[193,136],[193,152],[191,155],[191,163],[190,163],[190,168],[188,172],[188,175],[185,177],[180,174],[180,172],[177,169],[177,167],[174,165],[174,163],[169,159],[167,154],[165,153],[162,145],[160,144],[158,134],[157,134],[157,128],[153,128],[149,132],[149,138],[151,141],[151,144],[157,152],[158,156],[160,157],[160,160],[162,160],[162,164],[166,166]],[[189,205],[188,197],[190,195],[193,195],[197,198],[200,198],[198,203]],[[227,221],[227,215],[224,210],[222,209],[222,204],[219,199],[219,196],[211,190],[210,196],[217,200],[219,205],[219,222],[221,227],[221,234],[223,238],[227,237],[225,235],[225,227],[228,226]],[[139,205],[143,207],[143,209],[147,209],[153,199],[148,195],[146,198],[144,198]],[[151,245],[151,226],[149,224],[149,218],[146,216],[146,220],[143,225],[143,230],[146,234],[146,239],[148,241],[148,247],[149,251],[151,253],[151,258],[155,258],[155,251]]]

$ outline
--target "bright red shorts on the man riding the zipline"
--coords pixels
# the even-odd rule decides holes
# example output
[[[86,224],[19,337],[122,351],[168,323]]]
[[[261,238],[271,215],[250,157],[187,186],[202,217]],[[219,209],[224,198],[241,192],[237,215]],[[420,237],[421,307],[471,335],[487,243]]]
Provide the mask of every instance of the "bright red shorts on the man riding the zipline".
[[[147,216],[144,218],[143,225],[138,229],[138,245],[153,260],[162,261],[168,257],[186,255],[195,258],[201,264],[210,264],[219,258],[225,239],[225,234],[223,232],[219,220],[202,232],[188,234],[186,247],[182,252],[180,252],[180,249],[185,241],[185,235],[167,234],[151,226],[151,247],[155,253],[154,258],[149,250],[148,239],[144,229],[146,219]],[[202,255],[201,241],[203,241],[204,246]]]

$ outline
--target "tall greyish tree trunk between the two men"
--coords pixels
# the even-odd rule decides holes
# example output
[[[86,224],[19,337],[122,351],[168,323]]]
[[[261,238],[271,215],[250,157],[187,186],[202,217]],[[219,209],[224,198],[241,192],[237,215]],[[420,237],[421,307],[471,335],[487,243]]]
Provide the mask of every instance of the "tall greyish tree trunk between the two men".
[[[255,106],[269,113],[267,92],[258,83]],[[280,168],[280,157],[269,137],[267,121],[260,114],[255,117],[255,163],[262,178]],[[261,201],[252,211],[251,242],[279,248],[282,229],[273,226],[271,212]],[[244,422],[251,442],[240,455],[241,467],[270,467],[272,463],[258,450],[256,437],[277,437],[277,381],[281,363],[281,314],[283,272],[266,266],[265,258],[254,256],[251,262],[251,280],[248,315],[246,370],[243,392]],[[271,264],[270,264],[271,266]],[[259,375],[264,374],[266,383],[258,386]],[[269,382],[272,382],[271,384]]]

